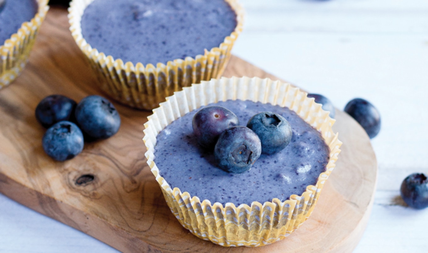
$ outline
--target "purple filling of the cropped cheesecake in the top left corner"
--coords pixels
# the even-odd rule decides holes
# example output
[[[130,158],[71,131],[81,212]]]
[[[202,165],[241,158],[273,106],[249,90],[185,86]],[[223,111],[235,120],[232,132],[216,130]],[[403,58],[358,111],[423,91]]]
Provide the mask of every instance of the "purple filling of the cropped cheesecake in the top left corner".
[[[34,18],[37,9],[36,0],[6,0],[0,6],[0,45],[17,33],[22,23]]]

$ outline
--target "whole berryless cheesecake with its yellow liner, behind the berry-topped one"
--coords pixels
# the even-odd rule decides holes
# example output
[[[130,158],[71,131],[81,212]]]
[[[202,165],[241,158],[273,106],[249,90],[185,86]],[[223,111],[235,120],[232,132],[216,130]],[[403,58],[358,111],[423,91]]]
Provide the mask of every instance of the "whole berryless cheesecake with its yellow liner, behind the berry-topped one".
[[[220,77],[242,30],[237,0],[73,0],[70,30],[101,88],[151,110],[191,83]]]

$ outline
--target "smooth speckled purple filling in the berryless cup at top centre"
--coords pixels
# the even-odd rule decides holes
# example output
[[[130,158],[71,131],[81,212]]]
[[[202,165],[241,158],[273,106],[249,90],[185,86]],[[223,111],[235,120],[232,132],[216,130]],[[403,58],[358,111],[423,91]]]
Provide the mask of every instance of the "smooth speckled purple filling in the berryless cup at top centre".
[[[95,0],[81,20],[99,52],[134,64],[166,64],[218,47],[236,27],[224,0]]]

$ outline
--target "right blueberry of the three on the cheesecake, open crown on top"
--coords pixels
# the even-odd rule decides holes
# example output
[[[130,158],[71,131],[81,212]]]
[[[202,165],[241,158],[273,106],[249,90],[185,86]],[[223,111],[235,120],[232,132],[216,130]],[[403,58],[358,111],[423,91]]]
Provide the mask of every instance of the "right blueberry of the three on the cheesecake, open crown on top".
[[[284,149],[293,137],[291,125],[278,113],[257,113],[247,123],[262,142],[263,154],[274,154]]]

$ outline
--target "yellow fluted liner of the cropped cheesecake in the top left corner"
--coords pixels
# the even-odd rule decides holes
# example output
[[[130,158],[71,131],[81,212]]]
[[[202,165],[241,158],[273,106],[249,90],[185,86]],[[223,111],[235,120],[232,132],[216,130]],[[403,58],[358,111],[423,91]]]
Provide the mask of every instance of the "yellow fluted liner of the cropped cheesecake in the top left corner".
[[[39,9],[34,18],[24,22],[17,33],[0,45],[0,89],[15,80],[28,62],[37,33],[49,9],[48,0],[37,0],[37,3]]]

